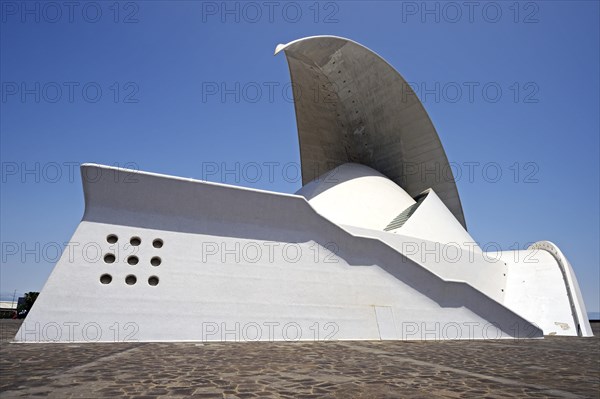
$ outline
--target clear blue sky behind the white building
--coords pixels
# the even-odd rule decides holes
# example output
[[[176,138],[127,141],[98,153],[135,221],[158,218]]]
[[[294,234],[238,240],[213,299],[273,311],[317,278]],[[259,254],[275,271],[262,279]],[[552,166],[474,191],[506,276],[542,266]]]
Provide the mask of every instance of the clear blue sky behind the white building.
[[[50,274],[83,213],[80,163],[296,191],[273,51],[331,34],[419,88],[471,235],[555,242],[600,311],[597,1],[71,4],[0,1],[3,298]]]

